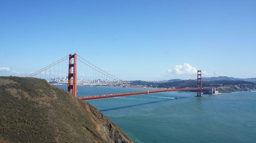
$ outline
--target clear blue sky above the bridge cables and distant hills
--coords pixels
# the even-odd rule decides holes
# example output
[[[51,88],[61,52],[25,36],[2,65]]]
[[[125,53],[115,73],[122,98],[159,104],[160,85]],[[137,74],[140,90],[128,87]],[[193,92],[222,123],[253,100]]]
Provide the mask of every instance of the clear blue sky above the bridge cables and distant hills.
[[[0,71],[78,53],[125,80],[256,77],[256,1],[0,1]]]

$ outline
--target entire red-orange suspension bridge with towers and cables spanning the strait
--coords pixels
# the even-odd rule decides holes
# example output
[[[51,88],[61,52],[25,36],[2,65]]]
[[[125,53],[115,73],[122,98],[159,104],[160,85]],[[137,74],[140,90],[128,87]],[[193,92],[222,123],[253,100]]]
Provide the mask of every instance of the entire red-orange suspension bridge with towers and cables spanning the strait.
[[[140,87],[138,85],[134,85],[131,84],[128,81],[123,81],[109,73],[107,73],[106,71],[102,70],[101,68],[95,66],[94,64],[92,64],[91,62],[87,61],[86,59],[82,58],[81,56],[79,56],[78,54],[70,54],[67,55],[59,60],[57,60],[56,62],[41,68],[40,70],[35,71],[34,73],[26,76],[26,77],[36,77],[42,74],[45,74],[45,79],[46,75],[49,75],[49,82],[51,81],[51,75],[54,79],[58,79],[60,80],[60,76],[65,77],[65,71],[60,71],[59,70],[59,66],[62,63],[62,70],[63,68],[63,62],[68,61],[68,67],[67,64],[65,65],[65,67],[68,68],[68,74],[67,74],[67,78],[68,78],[68,82],[67,82],[67,89],[68,91],[73,94],[73,96],[77,97],[77,85],[84,85],[84,83],[78,82],[77,80],[77,76],[80,77],[80,81],[89,81],[91,78],[91,81],[96,82],[97,84],[94,83],[94,85],[100,85],[99,82],[103,81],[103,80],[99,80],[99,77],[101,79],[106,79],[104,82],[106,84],[101,84],[101,86],[113,86],[113,83],[117,82],[118,84],[114,84],[114,86],[121,86],[123,85],[124,87],[136,87],[136,88],[141,88],[143,89],[143,91],[134,91],[134,92],[122,92],[119,91],[118,93],[105,93],[105,94],[100,94],[97,96],[84,96],[84,97],[78,97],[78,99],[81,99],[83,101],[88,101],[88,100],[97,100],[97,99],[107,99],[107,98],[116,98],[116,97],[125,97],[125,96],[136,96],[136,95],[141,95],[141,94],[151,94],[151,93],[159,93],[159,92],[169,92],[169,91],[188,91],[188,90],[197,90],[197,96],[196,97],[202,97],[202,90],[204,89],[208,89],[210,90],[210,92],[212,93],[215,88],[213,87],[203,87],[202,86],[202,71],[198,70],[197,71],[197,87],[193,87],[193,88],[178,88],[181,86],[186,85],[187,83],[190,82],[190,80],[187,80],[183,83],[181,83],[178,86],[172,87],[172,88],[167,88],[167,89],[149,89],[149,88],[144,88],[144,87]],[[78,64],[82,67],[80,70],[77,69]],[[57,69],[55,69],[55,67],[57,66]],[[53,68],[52,70],[52,74],[51,74],[51,68]],[[61,67],[60,67],[61,68]],[[66,69],[67,69],[66,68]],[[86,69],[91,69],[91,71],[88,71]],[[64,70],[66,70],[64,69]],[[57,74],[56,74],[56,70],[57,70]],[[48,71],[48,72],[47,72]],[[60,72],[59,72],[60,71]],[[92,74],[94,71],[95,73],[97,73],[95,76],[95,73]],[[61,73],[61,74],[60,74]],[[62,74],[64,73],[64,74]],[[84,73],[87,73],[84,74]],[[79,75],[80,74],[80,75]],[[55,78],[56,77],[56,78]],[[84,80],[83,80],[84,78]],[[87,78],[87,79],[86,79]],[[62,78],[63,79],[63,78]],[[111,81],[112,80],[112,81]],[[111,81],[112,84],[109,84]],[[108,83],[109,82],[109,83]],[[59,83],[59,82],[57,82]],[[90,84],[86,84],[86,85],[90,85]]]

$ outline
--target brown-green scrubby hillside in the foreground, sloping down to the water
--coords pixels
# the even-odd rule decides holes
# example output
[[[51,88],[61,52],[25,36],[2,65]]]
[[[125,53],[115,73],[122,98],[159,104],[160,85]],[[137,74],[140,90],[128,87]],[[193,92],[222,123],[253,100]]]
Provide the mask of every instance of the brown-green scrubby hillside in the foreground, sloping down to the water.
[[[0,142],[133,142],[87,102],[35,78],[0,77]]]

